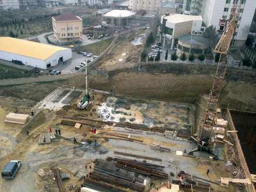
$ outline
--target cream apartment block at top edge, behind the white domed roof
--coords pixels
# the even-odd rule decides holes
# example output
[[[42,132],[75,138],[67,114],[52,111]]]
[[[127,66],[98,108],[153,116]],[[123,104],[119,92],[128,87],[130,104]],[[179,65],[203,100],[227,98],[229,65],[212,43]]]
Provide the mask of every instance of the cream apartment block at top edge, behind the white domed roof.
[[[129,9],[138,11],[146,10],[148,13],[157,13],[161,0],[130,0]]]

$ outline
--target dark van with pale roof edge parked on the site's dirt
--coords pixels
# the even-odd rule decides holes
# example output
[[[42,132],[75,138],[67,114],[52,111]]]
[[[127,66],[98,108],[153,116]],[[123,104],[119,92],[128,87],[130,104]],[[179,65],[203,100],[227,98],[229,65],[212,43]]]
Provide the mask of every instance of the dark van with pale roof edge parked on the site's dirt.
[[[7,165],[5,165],[5,168],[3,168],[2,177],[5,179],[13,179],[13,177],[15,177],[17,171],[19,170],[20,166],[22,166],[22,161],[10,161],[9,163],[7,163]]]

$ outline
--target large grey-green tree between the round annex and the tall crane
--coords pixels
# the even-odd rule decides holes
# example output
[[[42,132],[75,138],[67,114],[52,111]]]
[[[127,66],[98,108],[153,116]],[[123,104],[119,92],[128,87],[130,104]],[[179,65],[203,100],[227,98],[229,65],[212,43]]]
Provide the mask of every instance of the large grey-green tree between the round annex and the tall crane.
[[[216,33],[214,26],[207,27],[202,35],[205,37],[205,45],[207,48],[214,48],[219,41],[219,35]]]

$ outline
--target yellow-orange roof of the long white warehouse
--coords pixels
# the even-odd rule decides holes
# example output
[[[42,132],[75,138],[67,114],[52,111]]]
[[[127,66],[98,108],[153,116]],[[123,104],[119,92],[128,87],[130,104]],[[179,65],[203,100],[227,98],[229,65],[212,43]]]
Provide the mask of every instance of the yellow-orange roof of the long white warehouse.
[[[21,40],[19,38],[0,37],[0,51],[23,55],[30,58],[46,60],[56,52],[62,50],[67,50],[67,48]]]

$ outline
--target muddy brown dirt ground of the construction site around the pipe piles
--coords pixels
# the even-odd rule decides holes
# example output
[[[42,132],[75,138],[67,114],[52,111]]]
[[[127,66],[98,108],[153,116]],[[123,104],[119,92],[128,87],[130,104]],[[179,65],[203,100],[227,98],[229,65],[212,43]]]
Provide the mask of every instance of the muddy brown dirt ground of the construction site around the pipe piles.
[[[46,95],[45,95],[46,96]],[[94,93],[91,95],[93,98],[93,105],[88,111],[80,111],[77,109],[76,104],[80,98],[77,98],[71,105],[63,106],[59,111],[43,109],[30,120],[26,125],[14,125],[12,123],[4,123],[5,115],[10,111],[13,111],[15,107],[10,105],[13,102],[22,103],[24,108],[31,107],[35,105],[34,101],[26,99],[15,99],[15,98],[5,98],[1,97],[1,107],[0,107],[0,144],[3,147],[3,152],[1,148],[0,156],[0,169],[12,159],[19,159],[22,161],[22,168],[17,173],[17,176],[13,180],[0,180],[0,191],[58,191],[55,180],[53,179],[52,168],[61,168],[64,172],[69,173],[70,179],[64,182],[66,189],[70,184],[81,184],[79,182],[79,177],[81,175],[86,175],[88,170],[85,166],[87,163],[91,163],[95,158],[105,159],[106,157],[115,157],[113,151],[128,152],[131,154],[140,154],[155,158],[161,158],[162,162],[154,162],[147,160],[150,163],[156,163],[165,166],[166,173],[178,173],[180,170],[184,170],[191,175],[205,178],[213,182],[217,182],[220,177],[230,177],[232,172],[227,171],[225,161],[218,161],[219,165],[216,166],[207,176],[207,169],[213,168],[217,162],[209,161],[203,158],[190,158],[190,157],[180,157],[176,155],[175,151],[190,151],[196,147],[196,145],[191,141],[178,141],[172,140],[170,138],[165,138],[159,136],[158,134],[148,135],[144,132],[142,134],[133,134],[131,136],[139,136],[143,139],[143,143],[138,144],[130,141],[123,140],[109,140],[106,141],[102,138],[97,139],[97,144],[87,144],[80,145],[74,144],[73,141],[60,139],[59,141],[52,141],[50,144],[38,145],[38,137],[42,133],[47,133],[49,131],[48,127],[52,127],[52,131],[55,129],[61,129],[61,134],[66,138],[76,137],[77,141],[82,139],[90,139],[93,134],[90,133],[90,126],[82,125],[80,129],[76,129],[73,126],[64,126],[59,123],[62,120],[62,116],[81,116],[90,119],[101,119],[104,118],[102,111],[100,110],[102,104],[109,105],[109,99],[119,98],[122,102],[116,99],[118,104],[112,112],[113,115],[118,115],[119,118],[124,118],[124,116],[133,116],[133,107],[141,104],[145,107],[152,103],[148,110],[143,111],[143,109],[134,109],[137,113],[141,113],[144,117],[148,117],[154,113],[165,114],[166,109],[159,106],[165,106],[168,102],[154,101],[149,99],[138,99],[133,97],[120,95],[102,95]],[[9,101],[8,101],[9,99]],[[9,105],[6,103],[9,102]],[[124,102],[126,101],[126,103]],[[135,105],[133,105],[135,104]],[[144,104],[144,105],[143,105]],[[164,105],[165,104],[165,105]],[[170,102],[169,105],[186,106],[193,108],[191,104],[180,104],[175,102]],[[120,110],[123,109],[127,111]],[[130,108],[130,109],[129,109]],[[130,110],[130,111],[129,111]],[[183,110],[183,109],[180,109]],[[123,112],[122,117],[120,117],[119,112]],[[118,112],[118,113],[116,113]],[[190,111],[191,116],[194,115],[193,110]],[[135,114],[135,113],[134,113]],[[145,114],[145,115],[144,115]],[[186,115],[186,112],[184,113]],[[133,118],[140,119],[141,115],[134,115]],[[170,115],[170,114],[168,114]],[[158,116],[152,116],[153,118],[158,118]],[[169,117],[172,119],[172,115]],[[173,118],[177,118],[173,115]],[[120,120],[120,119],[119,119]],[[124,120],[124,119],[123,119]],[[164,119],[162,119],[164,121]],[[194,124],[194,120],[190,118],[190,125]],[[144,122],[144,121],[143,121]],[[159,123],[159,122],[157,122]],[[156,124],[157,124],[156,123]],[[161,124],[161,123],[160,123]],[[26,130],[29,130],[30,136],[26,136]],[[110,133],[115,133],[116,131],[126,131],[120,127],[104,126],[104,130],[98,130],[96,136],[101,135],[101,131],[107,131]],[[87,134],[86,137],[85,133]],[[170,148],[173,152],[162,152],[153,150],[150,145],[161,145]],[[108,152],[106,154],[99,154],[98,150],[101,148],[106,148]],[[224,154],[223,154],[224,156]],[[225,170],[225,171],[223,171]],[[76,176],[73,176],[74,173]],[[163,181],[166,182],[166,181]],[[156,183],[156,186],[159,183]],[[233,187],[229,188],[221,187],[216,184],[212,184],[215,191],[234,191]]]

